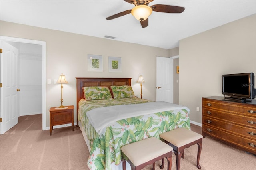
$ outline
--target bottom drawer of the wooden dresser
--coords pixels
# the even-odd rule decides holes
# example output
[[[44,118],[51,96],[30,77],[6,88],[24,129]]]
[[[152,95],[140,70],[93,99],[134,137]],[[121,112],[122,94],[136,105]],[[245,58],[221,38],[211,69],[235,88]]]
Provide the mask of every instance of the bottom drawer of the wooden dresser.
[[[224,142],[238,146],[239,148],[244,149],[250,153],[256,154],[256,140],[237,136],[235,134],[221,131],[220,129],[204,124],[202,126],[202,132],[208,134],[209,136],[223,140]]]

